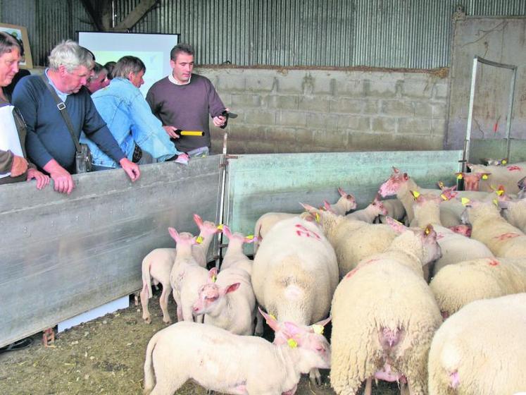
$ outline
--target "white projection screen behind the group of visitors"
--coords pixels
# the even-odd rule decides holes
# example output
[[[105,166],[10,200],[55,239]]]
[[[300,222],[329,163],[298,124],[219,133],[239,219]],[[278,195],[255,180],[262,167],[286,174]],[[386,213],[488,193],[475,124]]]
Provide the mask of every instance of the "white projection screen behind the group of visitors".
[[[146,96],[151,85],[172,72],[170,51],[179,35],[150,33],[78,32],[79,44],[92,51],[96,61],[104,65],[126,55],[137,56],[146,66],[141,92]]]

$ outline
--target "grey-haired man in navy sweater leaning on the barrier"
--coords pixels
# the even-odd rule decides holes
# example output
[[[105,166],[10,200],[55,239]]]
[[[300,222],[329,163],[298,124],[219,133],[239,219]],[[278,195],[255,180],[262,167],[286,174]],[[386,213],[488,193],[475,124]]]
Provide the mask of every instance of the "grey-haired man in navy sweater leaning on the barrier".
[[[120,149],[84,87],[93,66],[92,54],[68,40],[51,51],[49,68],[44,73],[65,104],[76,138],[83,131],[135,181],[140,176],[139,166]],[[27,123],[26,149],[30,159],[49,173],[55,190],[70,194],[75,188],[71,177],[75,171],[75,142],[46,82],[39,75],[23,78],[13,92],[13,104]]]

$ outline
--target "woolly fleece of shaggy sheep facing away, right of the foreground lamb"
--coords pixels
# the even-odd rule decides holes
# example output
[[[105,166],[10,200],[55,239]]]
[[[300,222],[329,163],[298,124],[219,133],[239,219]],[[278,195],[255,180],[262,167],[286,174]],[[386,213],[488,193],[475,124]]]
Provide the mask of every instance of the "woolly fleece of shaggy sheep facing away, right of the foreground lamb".
[[[406,375],[415,394],[427,392],[427,352],[442,316],[422,270],[411,266],[389,258],[388,250],[361,262],[338,285],[331,339],[331,384],[337,394],[356,393],[380,370],[383,328],[405,332],[392,367]]]

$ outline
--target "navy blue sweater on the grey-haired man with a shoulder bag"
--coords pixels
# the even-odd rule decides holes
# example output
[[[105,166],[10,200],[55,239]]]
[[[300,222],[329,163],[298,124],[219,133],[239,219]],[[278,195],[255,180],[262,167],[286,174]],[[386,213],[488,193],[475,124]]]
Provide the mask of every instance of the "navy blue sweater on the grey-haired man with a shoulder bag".
[[[27,123],[25,148],[31,161],[42,168],[51,159],[55,159],[65,169],[72,169],[75,163],[75,143],[51,92],[39,75],[28,75],[20,80],[13,92],[13,104],[18,107]],[[83,130],[115,162],[118,163],[125,157],[96,111],[86,87],[68,95],[65,106],[77,138]]]

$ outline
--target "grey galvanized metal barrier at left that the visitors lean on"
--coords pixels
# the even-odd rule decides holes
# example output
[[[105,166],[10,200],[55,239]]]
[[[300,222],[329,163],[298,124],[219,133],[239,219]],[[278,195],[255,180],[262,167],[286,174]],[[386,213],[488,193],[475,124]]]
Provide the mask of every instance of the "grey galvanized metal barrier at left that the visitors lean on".
[[[35,182],[0,187],[0,346],[141,288],[150,250],[174,247],[168,226],[215,221],[219,155],[189,166],[141,166],[73,176],[71,195]]]

